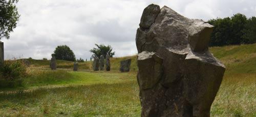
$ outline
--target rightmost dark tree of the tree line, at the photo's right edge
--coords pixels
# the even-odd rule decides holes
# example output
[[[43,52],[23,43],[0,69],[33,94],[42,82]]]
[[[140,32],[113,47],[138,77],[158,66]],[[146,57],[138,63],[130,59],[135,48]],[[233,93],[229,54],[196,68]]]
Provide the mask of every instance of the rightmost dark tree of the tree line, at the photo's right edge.
[[[251,17],[246,21],[243,33],[243,44],[256,43],[256,17]]]

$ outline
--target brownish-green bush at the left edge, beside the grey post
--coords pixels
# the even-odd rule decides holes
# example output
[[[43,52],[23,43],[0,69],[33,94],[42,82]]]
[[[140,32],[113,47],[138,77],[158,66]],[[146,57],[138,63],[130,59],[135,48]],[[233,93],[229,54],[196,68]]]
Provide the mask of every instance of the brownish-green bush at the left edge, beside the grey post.
[[[5,65],[0,67],[0,87],[22,86],[26,77],[26,65],[20,60],[5,61]]]

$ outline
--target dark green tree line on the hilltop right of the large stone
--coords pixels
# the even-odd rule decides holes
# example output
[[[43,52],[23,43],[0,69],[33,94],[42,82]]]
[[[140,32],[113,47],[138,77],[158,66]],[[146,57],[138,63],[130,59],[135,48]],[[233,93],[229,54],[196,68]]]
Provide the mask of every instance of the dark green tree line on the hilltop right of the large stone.
[[[210,19],[208,23],[215,26],[209,46],[256,43],[256,17],[238,13],[231,18]]]

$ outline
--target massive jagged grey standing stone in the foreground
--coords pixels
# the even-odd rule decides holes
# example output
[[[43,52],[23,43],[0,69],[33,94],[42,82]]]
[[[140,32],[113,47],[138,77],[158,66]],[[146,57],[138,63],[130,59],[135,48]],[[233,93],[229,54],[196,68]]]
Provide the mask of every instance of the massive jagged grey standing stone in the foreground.
[[[147,6],[136,34],[141,116],[209,116],[225,66],[209,51],[212,25]]]

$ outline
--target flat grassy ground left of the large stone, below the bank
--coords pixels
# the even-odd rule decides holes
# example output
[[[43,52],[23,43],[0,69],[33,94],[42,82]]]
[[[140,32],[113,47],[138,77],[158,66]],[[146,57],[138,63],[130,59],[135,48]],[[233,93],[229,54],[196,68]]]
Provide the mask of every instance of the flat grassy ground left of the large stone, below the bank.
[[[3,116],[137,116],[136,72],[68,72],[69,85],[0,93]],[[63,79],[66,80],[66,79]]]

